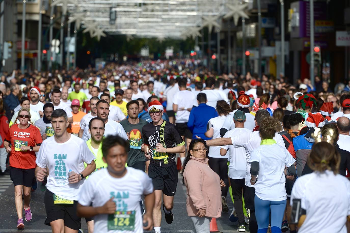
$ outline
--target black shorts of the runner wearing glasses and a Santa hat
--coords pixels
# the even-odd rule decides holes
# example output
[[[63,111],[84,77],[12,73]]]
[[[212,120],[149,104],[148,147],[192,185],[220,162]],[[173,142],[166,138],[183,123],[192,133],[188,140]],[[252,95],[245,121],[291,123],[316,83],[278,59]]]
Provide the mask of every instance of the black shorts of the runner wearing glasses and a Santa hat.
[[[176,165],[159,167],[150,163],[148,166],[148,176],[152,179],[154,190],[163,190],[163,194],[170,197],[175,195],[179,176]]]

